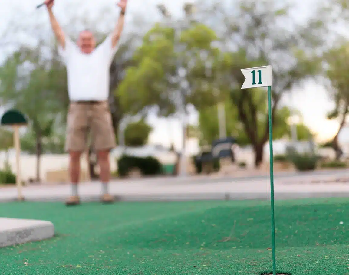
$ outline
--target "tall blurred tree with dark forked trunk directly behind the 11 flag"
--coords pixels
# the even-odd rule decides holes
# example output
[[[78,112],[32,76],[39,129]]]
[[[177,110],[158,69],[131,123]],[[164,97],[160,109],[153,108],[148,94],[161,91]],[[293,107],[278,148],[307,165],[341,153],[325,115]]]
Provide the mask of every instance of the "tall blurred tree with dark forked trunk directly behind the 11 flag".
[[[255,165],[259,166],[263,146],[269,138],[267,94],[255,89],[241,90],[245,79],[240,69],[272,65],[275,126],[278,112],[282,110],[279,108],[282,96],[294,85],[320,72],[319,52],[323,50],[326,28],[319,17],[310,18],[306,24],[296,23],[287,3],[244,0],[237,3],[238,7],[235,2],[232,5],[233,11],[217,3],[212,11],[218,15],[215,23],[217,29],[221,28],[217,32],[222,35],[224,49],[215,75],[221,78],[220,91],[228,92],[232,105],[237,108],[238,120],[255,151]],[[235,16],[231,16],[231,12]]]

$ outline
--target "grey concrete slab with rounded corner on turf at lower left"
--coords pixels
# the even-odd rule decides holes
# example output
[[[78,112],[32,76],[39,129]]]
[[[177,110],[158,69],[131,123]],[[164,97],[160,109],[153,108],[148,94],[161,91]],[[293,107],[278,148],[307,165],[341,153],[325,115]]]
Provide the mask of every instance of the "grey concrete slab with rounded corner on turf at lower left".
[[[53,236],[54,226],[51,222],[0,218],[0,247],[29,243]]]

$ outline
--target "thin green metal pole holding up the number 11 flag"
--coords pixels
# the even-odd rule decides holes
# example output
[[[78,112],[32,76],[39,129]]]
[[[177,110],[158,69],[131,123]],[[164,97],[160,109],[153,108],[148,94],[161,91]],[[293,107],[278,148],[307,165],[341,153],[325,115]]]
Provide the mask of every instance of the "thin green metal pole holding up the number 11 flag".
[[[275,213],[274,213],[274,168],[273,168],[273,124],[272,124],[272,86],[268,86],[268,111],[269,111],[269,162],[270,162],[270,202],[272,206],[272,252],[273,275],[276,275],[275,256]]]

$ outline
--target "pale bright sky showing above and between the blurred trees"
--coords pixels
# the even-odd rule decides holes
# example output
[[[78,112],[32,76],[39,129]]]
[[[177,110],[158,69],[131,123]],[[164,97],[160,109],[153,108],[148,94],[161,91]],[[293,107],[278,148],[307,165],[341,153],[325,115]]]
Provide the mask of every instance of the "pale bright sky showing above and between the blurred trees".
[[[35,9],[42,0],[0,0],[0,34],[10,19],[17,21],[20,25],[36,24],[40,28],[49,30],[49,21],[45,7]],[[297,18],[306,17],[316,0],[293,0],[297,5],[295,15]],[[181,8],[184,0],[129,0],[128,10],[126,14],[125,31],[128,31],[127,22],[143,18],[147,22],[160,19],[160,15],[156,9],[158,3],[163,3],[168,7],[173,16],[181,15]],[[195,1],[194,1],[195,2]],[[97,4],[98,3],[98,4]],[[106,24],[102,28],[110,31],[114,25],[112,18],[117,18],[118,8],[115,7],[113,0],[55,0],[54,12],[59,22],[64,24],[66,18],[76,13],[78,16],[88,14],[88,17],[94,18],[100,22],[97,16],[101,12],[109,13],[105,16]],[[73,5],[73,7],[72,7]],[[69,10],[67,9],[69,7]],[[40,35],[40,34],[38,34]],[[25,34],[16,36],[15,39],[25,40]],[[1,43],[1,42],[0,42]],[[0,53],[0,60],[4,58],[4,54]],[[304,123],[317,134],[318,141],[330,139],[337,131],[339,124],[336,121],[326,119],[326,113],[331,110],[333,104],[326,94],[326,90],[318,83],[309,81],[302,87],[292,89],[290,95],[283,98],[283,104],[295,107],[303,115]],[[148,121],[154,131],[150,135],[150,143],[163,144],[170,146],[174,142],[176,148],[181,148],[181,121],[179,119],[158,119],[150,116]],[[198,114],[193,112],[189,118],[191,124],[198,123]],[[188,147],[197,150],[197,144],[191,141]]]

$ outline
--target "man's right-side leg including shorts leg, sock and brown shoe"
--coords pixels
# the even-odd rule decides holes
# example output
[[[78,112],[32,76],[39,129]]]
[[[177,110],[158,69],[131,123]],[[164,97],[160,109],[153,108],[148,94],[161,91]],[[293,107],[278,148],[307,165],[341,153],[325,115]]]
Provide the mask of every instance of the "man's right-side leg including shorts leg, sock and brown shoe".
[[[102,201],[109,203],[114,200],[108,190],[110,180],[109,151],[115,147],[115,133],[107,102],[94,105],[92,113],[92,136],[102,182]]]

